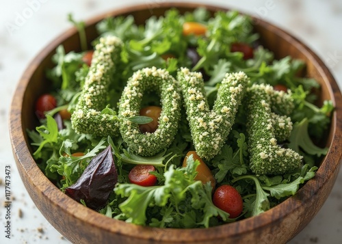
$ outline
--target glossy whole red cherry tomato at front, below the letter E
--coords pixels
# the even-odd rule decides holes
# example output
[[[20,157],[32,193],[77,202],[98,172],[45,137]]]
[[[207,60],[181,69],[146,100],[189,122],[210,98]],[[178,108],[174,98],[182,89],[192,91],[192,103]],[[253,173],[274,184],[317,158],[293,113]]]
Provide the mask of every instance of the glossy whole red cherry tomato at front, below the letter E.
[[[213,204],[229,213],[232,219],[238,217],[244,208],[241,195],[230,185],[222,185],[215,190]]]

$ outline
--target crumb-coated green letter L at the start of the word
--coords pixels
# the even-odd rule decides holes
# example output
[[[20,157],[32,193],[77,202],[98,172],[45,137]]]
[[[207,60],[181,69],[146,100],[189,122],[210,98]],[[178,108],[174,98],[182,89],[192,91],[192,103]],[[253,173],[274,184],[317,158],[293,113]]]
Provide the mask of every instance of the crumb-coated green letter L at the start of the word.
[[[121,46],[121,40],[115,36],[100,38],[100,42],[96,44],[90,70],[71,117],[77,133],[118,135],[118,117],[101,111],[107,105],[108,87],[114,78],[115,61],[119,60]]]

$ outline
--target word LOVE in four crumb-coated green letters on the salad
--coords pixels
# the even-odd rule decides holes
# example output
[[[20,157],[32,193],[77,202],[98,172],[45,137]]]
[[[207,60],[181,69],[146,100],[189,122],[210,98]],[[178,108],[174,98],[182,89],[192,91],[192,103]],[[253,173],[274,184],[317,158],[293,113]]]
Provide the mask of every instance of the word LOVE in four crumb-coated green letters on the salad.
[[[121,48],[121,40],[114,36],[101,38],[95,46],[90,71],[71,118],[77,133],[120,134],[132,152],[153,156],[172,143],[178,131],[183,97],[196,152],[199,157],[209,160],[220,152],[244,101],[248,141],[252,148],[251,168],[256,174],[261,174],[259,169],[263,168],[265,160],[284,165],[287,161],[300,164],[297,152],[276,144],[277,139],[283,141],[291,133],[292,123],[287,117],[293,109],[291,95],[274,91],[269,85],[248,87],[249,79],[244,72],[226,74],[210,109],[200,72],[181,68],[174,79],[165,69],[143,68],[127,81],[116,114],[107,106],[106,98]],[[139,116],[142,98],[151,91],[160,94],[161,98],[159,126],[154,133],[141,133],[138,124],[129,118]],[[282,169],[286,172],[287,167]]]

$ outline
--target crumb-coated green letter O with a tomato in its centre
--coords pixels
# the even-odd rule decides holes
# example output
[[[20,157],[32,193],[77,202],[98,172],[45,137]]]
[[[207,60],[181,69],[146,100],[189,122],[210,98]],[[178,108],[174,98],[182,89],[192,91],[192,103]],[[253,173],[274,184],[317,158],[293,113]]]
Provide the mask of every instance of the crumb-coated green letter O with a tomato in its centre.
[[[143,134],[136,123],[124,119],[139,115],[142,96],[151,90],[161,94],[162,110],[157,130]],[[127,81],[120,98],[118,116],[123,119],[120,124],[122,139],[134,153],[153,156],[172,143],[181,118],[180,110],[178,81],[168,71],[156,67],[137,70]]]

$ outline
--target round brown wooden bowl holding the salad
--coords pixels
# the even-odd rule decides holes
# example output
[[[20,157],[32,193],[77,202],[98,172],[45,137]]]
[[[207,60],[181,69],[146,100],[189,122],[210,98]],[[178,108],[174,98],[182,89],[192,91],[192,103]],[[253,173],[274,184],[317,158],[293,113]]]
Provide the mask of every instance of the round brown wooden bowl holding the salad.
[[[95,24],[106,16],[132,14],[137,23],[146,18],[161,15],[171,7],[181,12],[205,6],[211,11],[222,8],[193,3],[158,3],[135,5],[114,10],[86,22],[88,40],[96,37]],[[148,8],[150,7],[150,8]],[[306,62],[306,75],[321,84],[321,100],[330,99],[336,107],[328,134],[328,154],[321,162],[315,178],[309,180],[293,197],[257,217],[207,229],[162,229],[136,226],[110,219],[75,202],[55,187],[40,171],[31,157],[26,129],[38,125],[34,114],[36,98],[47,92],[44,71],[51,68],[51,56],[59,44],[66,52],[81,51],[75,28],[51,42],[34,59],[18,83],[10,113],[10,137],[16,165],[21,178],[35,204],[48,221],[73,243],[286,243],[313,219],[337,178],[341,163],[342,144],[342,97],[336,81],[324,63],[299,40],[278,27],[255,18],[255,29],[261,42],[274,51],[276,58],[291,55]]]

